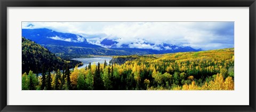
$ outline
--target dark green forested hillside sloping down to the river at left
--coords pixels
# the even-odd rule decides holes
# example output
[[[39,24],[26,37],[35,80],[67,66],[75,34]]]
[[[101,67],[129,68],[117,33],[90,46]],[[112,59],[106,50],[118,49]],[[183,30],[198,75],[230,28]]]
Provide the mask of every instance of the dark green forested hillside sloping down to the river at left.
[[[35,74],[42,73],[43,67],[47,67],[50,70],[53,70],[53,67],[62,69],[62,65],[65,62],[70,67],[82,65],[79,61],[63,60],[45,47],[22,37],[22,73],[28,73],[29,70],[34,71]]]

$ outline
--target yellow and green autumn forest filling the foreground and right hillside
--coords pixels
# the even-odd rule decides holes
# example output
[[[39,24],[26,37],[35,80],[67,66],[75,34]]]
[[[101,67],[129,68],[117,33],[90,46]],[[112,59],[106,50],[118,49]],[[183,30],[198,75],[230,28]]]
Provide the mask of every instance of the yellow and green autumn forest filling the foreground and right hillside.
[[[22,71],[22,90],[234,90],[234,49],[113,57],[123,58],[132,60]]]

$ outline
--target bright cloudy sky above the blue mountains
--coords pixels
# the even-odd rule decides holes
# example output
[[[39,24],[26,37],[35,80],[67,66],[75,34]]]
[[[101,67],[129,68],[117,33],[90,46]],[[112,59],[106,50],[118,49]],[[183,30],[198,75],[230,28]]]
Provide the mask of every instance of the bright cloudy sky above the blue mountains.
[[[117,46],[137,48],[154,47],[145,43],[203,50],[234,47],[234,22],[22,22],[22,29],[37,28],[80,35],[95,45],[107,38]]]

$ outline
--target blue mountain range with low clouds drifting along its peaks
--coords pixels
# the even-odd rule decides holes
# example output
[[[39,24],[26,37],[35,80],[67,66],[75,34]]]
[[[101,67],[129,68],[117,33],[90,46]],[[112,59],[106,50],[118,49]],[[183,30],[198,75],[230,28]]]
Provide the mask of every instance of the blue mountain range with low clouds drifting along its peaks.
[[[101,39],[100,45],[94,45],[87,42],[87,39],[81,35],[71,33],[60,33],[47,28],[40,29],[22,29],[22,37],[30,39],[53,53],[61,54],[92,54],[92,55],[132,55],[132,54],[163,54],[174,52],[194,52],[202,51],[193,49],[189,46],[177,46],[167,43],[153,44],[148,42],[130,43],[117,46],[118,42],[113,39]],[[132,45],[143,44],[154,46],[154,49],[145,49],[132,47]]]

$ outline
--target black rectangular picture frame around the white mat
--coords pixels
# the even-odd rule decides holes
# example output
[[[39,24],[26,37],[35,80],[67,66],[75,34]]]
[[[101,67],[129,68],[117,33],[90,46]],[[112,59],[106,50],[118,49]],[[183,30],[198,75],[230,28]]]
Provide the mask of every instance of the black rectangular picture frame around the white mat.
[[[1,111],[255,111],[255,0],[0,0]],[[9,106],[7,105],[7,7],[250,7],[250,105],[248,106]],[[239,96],[237,96],[239,97]]]

